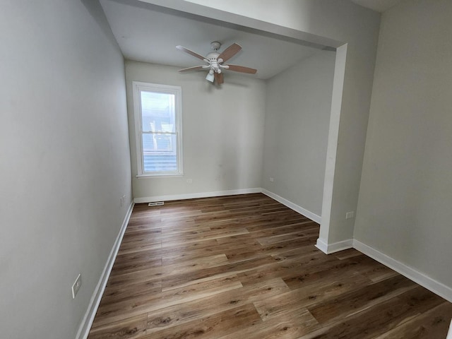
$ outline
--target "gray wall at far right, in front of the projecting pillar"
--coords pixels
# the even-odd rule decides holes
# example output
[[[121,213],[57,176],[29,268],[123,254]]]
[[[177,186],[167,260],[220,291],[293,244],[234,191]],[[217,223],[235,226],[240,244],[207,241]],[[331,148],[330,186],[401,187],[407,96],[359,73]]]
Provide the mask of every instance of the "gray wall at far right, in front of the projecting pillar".
[[[452,2],[383,13],[355,238],[452,287]]]

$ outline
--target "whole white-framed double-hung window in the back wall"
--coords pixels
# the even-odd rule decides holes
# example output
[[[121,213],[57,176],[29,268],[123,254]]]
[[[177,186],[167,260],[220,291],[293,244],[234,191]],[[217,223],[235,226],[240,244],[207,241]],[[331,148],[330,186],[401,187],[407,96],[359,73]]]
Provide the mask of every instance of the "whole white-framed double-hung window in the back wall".
[[[138,177],[182,174],[182,88],[133,81]]]

